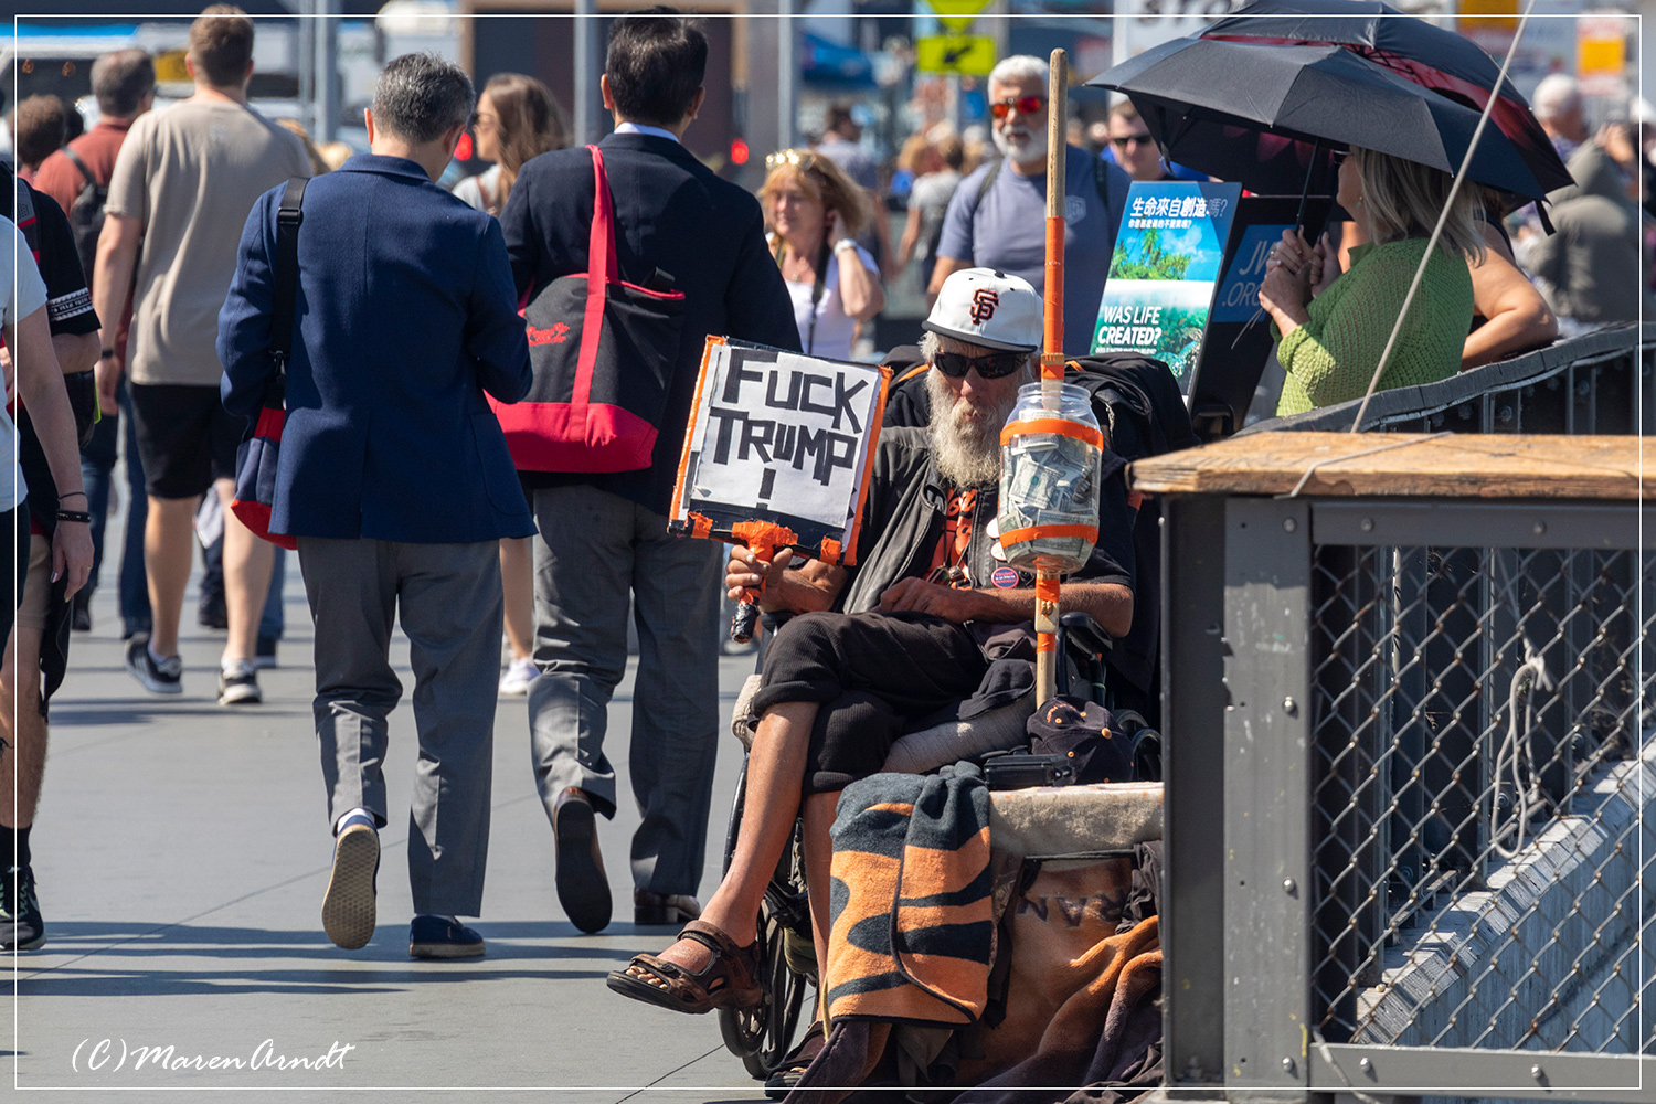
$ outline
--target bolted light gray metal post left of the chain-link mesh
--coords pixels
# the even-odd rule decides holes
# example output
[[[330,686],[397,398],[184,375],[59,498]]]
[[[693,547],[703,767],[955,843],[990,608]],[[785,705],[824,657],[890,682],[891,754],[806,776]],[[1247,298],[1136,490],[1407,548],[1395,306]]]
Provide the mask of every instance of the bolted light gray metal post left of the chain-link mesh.
[[[1280,1102],[1310,1049],[1310,505],[1232,498],[1224,545],[1224,1078]]]

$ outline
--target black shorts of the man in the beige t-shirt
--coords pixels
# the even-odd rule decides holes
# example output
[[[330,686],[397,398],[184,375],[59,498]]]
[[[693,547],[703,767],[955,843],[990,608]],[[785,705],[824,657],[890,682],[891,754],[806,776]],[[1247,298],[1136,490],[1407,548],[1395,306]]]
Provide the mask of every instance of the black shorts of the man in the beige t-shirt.
[[[217,478],[235,478],[235,449],[247,429],[219,402],[217,387],[132,384],[132,429],[154,498],[195,498]]]

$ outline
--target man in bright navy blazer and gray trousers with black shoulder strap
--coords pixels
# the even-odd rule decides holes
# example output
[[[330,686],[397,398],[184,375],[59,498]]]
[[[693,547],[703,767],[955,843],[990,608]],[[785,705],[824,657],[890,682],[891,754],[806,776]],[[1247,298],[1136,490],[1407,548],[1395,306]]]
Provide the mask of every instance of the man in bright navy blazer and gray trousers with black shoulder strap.
[[[530,384],[505,243],[492,217],[434,184],[474,104],[460,68],[396,58],[366,113],[373,152],[305,192],[270,523],[298,538],[316,619],[316,737],[336,836],[323,929],[346,948],[374,934],[381,763],[402,692],[389,662],[394,614],[409,637],[416,958],[484,953],[457,917],[482,909],[489,852],[497,550],[535,531],[484,397],[517,402]],[[253,207],[219,314],[224,406],[247,417],[273,371],[282,190]]]

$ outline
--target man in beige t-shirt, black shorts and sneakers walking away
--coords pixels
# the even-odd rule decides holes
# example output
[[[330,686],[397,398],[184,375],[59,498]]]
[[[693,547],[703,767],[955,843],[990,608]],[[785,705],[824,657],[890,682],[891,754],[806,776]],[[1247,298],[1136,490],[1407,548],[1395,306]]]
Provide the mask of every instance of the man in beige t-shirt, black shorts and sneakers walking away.
[[[272,546],[230,513],[235,449],[247,419],[232,419],[219,402],[222,367],[214,341],[253,202],[311,170],[298,137],[247,106],[253,22],[240,8],[215,3],[204,10],[190,25],[185,63],[195,94],[141,116],[109,179],[93,275],[104,324],[98,389],[113,407],[123,371],[116,333],[131,288],[126,371],[149,493],[144,564],[154,631],[132,637],[126,667],[152,694],[182,694],[179,616],[190,578],[192,521],[200,497],[217,488],[230,622],[219,703],[237,705],[258,702],[255,639]]]

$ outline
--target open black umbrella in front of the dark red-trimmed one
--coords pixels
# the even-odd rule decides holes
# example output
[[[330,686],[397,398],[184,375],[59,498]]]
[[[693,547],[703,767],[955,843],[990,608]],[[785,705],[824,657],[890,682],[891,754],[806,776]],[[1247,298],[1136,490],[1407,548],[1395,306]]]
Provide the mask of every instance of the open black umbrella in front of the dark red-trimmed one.
[[[1479,113],[1343,46],[1176,38],[1088,84],[1128,94],[1169,161],[1267,195],[1300,194],[1330,147],[1363,146],[1454,174]],[[1540,199],[1514,144],[1484,131],[1467,175]],[[1326,177],[1325,177],[1326,179]]]

